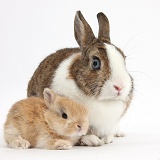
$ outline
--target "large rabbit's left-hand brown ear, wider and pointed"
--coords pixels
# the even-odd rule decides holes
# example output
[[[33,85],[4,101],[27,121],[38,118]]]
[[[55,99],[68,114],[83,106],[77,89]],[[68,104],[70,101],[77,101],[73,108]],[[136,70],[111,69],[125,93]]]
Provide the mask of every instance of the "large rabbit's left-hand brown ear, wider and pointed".
[[[81,48],[90,45],[95,39],[90,25],[87,23],[80,11],[77,11],[75,15],[74,35]]]

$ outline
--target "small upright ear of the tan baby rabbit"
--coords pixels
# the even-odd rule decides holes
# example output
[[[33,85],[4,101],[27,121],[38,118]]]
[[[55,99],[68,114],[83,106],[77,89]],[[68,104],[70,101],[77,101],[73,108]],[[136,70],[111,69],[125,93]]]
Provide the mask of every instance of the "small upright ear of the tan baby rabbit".
[[[58,95],[54,93],[51,89],[45,88],[43,91],[43,96],[47,107],[50,108]]]

